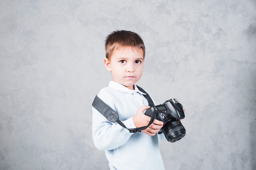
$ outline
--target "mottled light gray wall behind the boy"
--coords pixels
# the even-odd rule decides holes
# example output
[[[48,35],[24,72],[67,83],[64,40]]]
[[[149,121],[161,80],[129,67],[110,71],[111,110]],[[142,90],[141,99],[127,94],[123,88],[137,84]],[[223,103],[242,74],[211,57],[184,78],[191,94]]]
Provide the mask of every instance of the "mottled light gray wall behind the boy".
[[[144,39],[138,85],[186,109],[166,170],[256,169],[255,0],[0,0],[0,23],[1,170],[108,169],[91,104],[117,29]]]

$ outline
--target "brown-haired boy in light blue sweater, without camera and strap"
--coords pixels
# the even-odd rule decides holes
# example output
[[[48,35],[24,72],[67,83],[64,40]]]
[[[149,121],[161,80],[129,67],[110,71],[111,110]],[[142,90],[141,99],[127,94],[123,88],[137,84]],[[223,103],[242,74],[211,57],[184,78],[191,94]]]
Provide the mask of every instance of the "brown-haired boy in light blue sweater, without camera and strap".
[[[129,129],[147,126],[150,117],[148,101],[135,84],[141,78],[145,46],[141,37],[131,31],[115,31],[106,39],[106,69],[113,81],[101,89],[98,97],[119,114],[119,120]],[[92,108],[92,135],[96,148],[105,150],[111,170],[162,170],[157,134],[163,122],[154,120],[145,130],[130,133],[117,123],[109,122]]]

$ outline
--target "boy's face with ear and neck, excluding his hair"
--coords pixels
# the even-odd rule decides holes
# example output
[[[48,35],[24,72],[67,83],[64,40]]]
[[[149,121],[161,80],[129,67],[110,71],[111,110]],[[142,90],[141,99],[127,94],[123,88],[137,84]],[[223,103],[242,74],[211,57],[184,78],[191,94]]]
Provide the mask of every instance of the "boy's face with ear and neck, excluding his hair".
[[[141,78],[144,64],[141,48],[126,47],[115,50],[109,59],[105,58],[106,69],[111,72],[113,81],[133,90],[133,85]]]

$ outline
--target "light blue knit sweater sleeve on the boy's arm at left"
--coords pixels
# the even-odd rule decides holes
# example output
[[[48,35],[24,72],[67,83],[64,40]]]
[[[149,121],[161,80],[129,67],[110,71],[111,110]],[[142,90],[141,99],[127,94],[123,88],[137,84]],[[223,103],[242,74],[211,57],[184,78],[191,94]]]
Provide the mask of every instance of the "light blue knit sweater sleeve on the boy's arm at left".
[[[106,90],[101,90],[98,96],[112,109],[115,109],[115,101],[118,100],[116,96],[112,96]],[[133,117],[122,122],[127,128],[136,128]],[[109,122],[99,111],[92,107],[92,137],[97,149],[112,150],[118,148],[124,145],[132,134],[121,125]]]

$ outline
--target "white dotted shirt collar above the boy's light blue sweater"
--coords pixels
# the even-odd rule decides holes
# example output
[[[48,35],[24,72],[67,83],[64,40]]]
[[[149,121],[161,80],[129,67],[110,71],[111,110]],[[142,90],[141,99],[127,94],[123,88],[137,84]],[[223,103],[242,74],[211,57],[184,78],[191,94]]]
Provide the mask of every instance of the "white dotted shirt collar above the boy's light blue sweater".
[[[114,89],[119,90],[120,92],[124,92],[124,95],[131,98],[132,100],[135,100],[139,103],[139,105],[144,105],[143,103],[143,97],[142,95],[145,93],[139,91],[137,85],[134,84],[134,90],[130,90],[124,85],[121,85],[120,83],[117,83],[115,81],[110,81],[108,84],[109,87],[112,87]],[[141,95],[142,94],[142,95]]]

